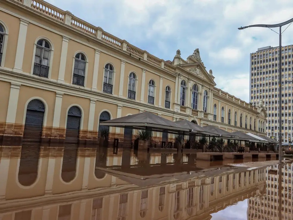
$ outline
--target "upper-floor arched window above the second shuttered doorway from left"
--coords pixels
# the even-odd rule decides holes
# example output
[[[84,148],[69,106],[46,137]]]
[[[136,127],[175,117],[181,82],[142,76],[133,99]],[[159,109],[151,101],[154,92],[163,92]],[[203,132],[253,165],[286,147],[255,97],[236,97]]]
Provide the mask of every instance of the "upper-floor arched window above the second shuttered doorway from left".
[[[74,57],[72,84],[84,86],[85,83],[85,55],[77,53]]]

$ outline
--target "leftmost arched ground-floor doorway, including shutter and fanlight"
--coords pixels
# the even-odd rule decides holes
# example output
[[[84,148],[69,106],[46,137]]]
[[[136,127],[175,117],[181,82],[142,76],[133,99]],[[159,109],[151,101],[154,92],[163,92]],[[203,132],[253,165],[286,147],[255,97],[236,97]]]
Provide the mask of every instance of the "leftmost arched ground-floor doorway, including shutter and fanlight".
[[[40,142],[43,130],[45,106],[38,99],[33,99],[27,105],[24,123],[24,141]]]

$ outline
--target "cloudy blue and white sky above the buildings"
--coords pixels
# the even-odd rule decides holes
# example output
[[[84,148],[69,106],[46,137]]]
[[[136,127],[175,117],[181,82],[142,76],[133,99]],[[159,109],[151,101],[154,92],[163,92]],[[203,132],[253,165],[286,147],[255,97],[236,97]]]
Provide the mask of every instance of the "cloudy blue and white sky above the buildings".
[[[293,17],[292,0],[47,1],[164,60],[172,61],[177,49],[187,58],[199,48],[217,87],[245,101],[250,53],[278,46],[278,34],[268,28],[237,28]],[[293,24],[283,34],[283,45],[293,44],[292,35]]]

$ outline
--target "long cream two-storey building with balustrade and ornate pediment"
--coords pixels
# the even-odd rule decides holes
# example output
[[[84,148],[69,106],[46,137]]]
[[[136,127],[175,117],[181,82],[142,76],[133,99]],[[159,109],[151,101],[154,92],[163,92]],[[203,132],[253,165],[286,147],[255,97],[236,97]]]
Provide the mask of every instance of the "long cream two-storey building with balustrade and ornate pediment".
[[[97,140],[100,121],[143,111],[266,133],[265,109],[217,89],[198,49],[164,61],[43,1],[1,1],[0,25],[3,145]],[[121,128],[110,132],[123,138]]]

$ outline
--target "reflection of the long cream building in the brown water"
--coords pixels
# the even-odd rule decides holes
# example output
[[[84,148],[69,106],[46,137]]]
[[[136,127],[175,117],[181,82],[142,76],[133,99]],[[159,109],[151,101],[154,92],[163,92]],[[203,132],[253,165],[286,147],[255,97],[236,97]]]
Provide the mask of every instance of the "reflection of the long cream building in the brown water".
[[[40,156],[32,159],[35,151],[26,147],[38,147]],[[150,173],[149,177],[155,179],[156,184],[138,186],[132,179],[143,183],[149,180],[141,180],[137,175],[126,172],[121,172],[123,175],[120,176],[127,176],[127,181],[119,175],[96,172],[99,161],[93,148],[76,149],[76,157],[71,157],[71,162],[74,162],[71,175],[71,171],[65,169],[66,147],[29,145],[2,149],[1,220],[211,219],[212,213],[265,189],[264,168],[223,167],[218,170],[215,167],[209,170],[201,168],[202,172],[198,168],[198,173],[186,175],[186,172],[172,172],[172,167],[180,165],[174,165],[171,155],[165,158],[171,167],[169,174]],[[106,155],[104,165],[108,171],[114,172],[125,165],[124,151],[113,154],[108,149]],[[136,164],[134,155],[129,156],[127,164]],[[161,154],[152,154],[149,165],[144,169],[157,169],[164,165],[163,160]],[[183,159],[183,163],[185,161]],[[180,176],[180,180],[172,178],[170,173]]]

